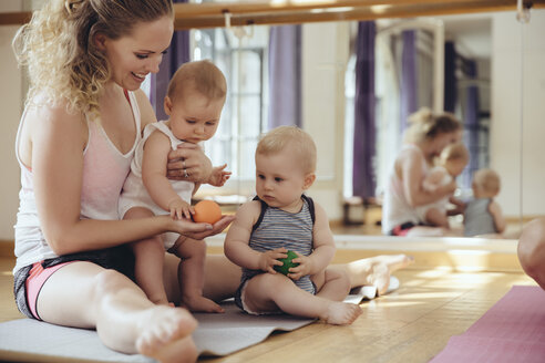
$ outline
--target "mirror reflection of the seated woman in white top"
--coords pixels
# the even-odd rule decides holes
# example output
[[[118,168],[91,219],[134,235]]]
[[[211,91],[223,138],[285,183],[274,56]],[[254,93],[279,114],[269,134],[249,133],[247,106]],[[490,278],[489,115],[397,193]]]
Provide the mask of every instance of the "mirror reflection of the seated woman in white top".
[[[450,113],[433,114],[423,108],[409,117],[404,145],[388,178],[382,210],[382,232],[391,236],[444,236],[443,227],[426,226],[415,207],[431,204],[456,189],[455,182],[433,191],[423,179],[443,148],[462,137],[461,122]]]

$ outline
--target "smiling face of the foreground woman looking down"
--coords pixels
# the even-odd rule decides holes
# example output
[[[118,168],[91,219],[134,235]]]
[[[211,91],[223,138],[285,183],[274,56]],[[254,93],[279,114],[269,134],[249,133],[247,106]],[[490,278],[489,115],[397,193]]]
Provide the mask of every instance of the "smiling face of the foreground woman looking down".
[[[163,54],[171,44],[174,23],[171,17],[137,23],[133,31],[116,40],[97,34],[97,46],[110,62],[112,81],[135,91],[150,73],[157,73]]]

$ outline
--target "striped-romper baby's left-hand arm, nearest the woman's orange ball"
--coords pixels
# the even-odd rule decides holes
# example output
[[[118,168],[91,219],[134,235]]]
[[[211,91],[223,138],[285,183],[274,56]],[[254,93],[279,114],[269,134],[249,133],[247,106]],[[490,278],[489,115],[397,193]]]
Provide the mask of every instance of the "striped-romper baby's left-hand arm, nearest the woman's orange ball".
[[[260,203],[251,200],[245,203],[237,210],[235,221],[225,238],[225,256],[234,263],[250,269],[263,270],[270,273],[277,273],[274,266],[281,266],[279,258],[287,257],[285,248],[258,252],[249,247],[251,228],[259,218],[261,211]]]

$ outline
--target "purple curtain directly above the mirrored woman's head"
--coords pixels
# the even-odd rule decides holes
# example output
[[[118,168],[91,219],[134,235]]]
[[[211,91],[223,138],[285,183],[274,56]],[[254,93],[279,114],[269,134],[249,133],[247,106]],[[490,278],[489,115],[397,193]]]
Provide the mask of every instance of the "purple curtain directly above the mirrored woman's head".
[[[418,111],[418,74],[417,74],[417,32],[405,30],[402,33],[403,51],[401,53],[401,90],[400,90],[400,129],[407,127],[407,118]]]

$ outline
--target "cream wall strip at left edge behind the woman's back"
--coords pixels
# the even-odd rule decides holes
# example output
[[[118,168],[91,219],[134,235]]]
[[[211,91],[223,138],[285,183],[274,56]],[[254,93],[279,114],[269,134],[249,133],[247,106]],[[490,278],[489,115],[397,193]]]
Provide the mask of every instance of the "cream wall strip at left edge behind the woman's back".
[[[20,11],[21,1],[0,1],[0,12]],[[19,205],[19,166],[14,154],[14,139],[22,107],[21,72],[17,66],[11,40],[19,27],[0,27],[0,241],[13,240],[13,225]]]

